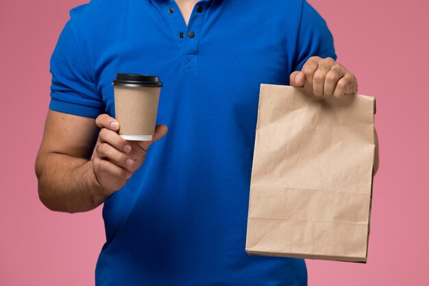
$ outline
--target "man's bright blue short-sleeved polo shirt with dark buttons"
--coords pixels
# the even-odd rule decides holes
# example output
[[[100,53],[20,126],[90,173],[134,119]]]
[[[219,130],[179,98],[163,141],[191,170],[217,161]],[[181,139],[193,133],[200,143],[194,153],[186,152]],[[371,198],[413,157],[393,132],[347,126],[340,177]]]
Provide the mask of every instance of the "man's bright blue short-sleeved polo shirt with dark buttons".
[[[116,73],[158,75],[169,127],[103,206],[97,285],[306,285],[302,259],[245,252],[259,86],[335,58],[302,0],[212,0],[186,27],[174,1],[93,0],[51,58],[51,110],[114,117]]]

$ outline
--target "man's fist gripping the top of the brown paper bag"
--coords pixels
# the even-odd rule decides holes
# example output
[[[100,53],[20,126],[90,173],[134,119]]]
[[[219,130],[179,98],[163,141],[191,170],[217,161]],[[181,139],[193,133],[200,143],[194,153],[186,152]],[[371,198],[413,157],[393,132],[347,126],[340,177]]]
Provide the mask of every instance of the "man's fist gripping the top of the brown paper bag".
[[[294,71],[290,78],[291,86],[304,86],[316,96],[328,95],[336,98],[346,93],[356,93],[356,77],[333,58],[308,58],[302,71]]]

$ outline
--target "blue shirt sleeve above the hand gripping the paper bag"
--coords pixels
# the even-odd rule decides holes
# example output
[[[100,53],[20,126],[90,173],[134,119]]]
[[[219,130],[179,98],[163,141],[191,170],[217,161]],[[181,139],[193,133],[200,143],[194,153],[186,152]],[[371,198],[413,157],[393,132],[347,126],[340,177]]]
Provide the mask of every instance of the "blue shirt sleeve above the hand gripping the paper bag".
[[[336,60],[334,38],[326,21],[307,1],[303,1],[297,38],[297,58],[293,71],[301,71],[304,63],[312,56]]]

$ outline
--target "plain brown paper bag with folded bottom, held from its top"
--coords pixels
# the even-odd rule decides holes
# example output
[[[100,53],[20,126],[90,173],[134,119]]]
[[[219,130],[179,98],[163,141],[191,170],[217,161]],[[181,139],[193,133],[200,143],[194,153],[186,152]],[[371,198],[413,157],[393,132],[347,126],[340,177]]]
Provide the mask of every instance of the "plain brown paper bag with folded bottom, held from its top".
[[[375,98],[261,84],[246,251],[367,261]]]

